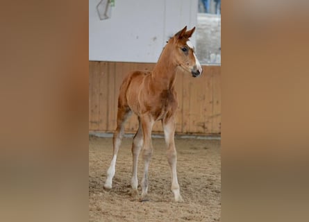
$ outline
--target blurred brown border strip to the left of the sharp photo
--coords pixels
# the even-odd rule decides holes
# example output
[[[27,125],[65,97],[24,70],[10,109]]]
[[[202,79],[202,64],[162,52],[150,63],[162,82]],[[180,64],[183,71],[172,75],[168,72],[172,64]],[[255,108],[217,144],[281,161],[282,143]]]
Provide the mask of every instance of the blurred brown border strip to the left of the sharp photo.
[[[0,221],[87,221],[88,1],[0,8]]]

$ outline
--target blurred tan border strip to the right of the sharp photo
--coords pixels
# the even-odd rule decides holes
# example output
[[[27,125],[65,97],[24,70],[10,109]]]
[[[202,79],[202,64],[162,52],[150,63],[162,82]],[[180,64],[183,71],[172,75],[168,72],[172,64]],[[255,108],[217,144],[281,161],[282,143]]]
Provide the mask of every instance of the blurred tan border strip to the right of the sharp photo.
[[[222,221],[308,219],[308,3],[222,3]]]

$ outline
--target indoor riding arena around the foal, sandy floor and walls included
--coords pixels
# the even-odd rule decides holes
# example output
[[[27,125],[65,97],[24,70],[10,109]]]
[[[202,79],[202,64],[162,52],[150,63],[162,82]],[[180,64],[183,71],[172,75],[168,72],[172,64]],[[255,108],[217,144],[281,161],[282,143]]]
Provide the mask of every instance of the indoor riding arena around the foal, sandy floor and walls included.
[[[197,36],[203,33],[201,27],[208,26],[198,24],[198,1],[144,3],[138,0],[130,4],[119,0],[109,9],[110,18],[105,19],[97,15],[99,2],[90,2],[89,221],[220,221],[221,63],[201,62],[203,71],[197,78],[182,69],[176,70],[176,171],[183,202],[176,202],[171,190],[172,173],[161,121],[156,121],[152,128],[149,199],[140,199],[144,173],[142,155],[137,164],[137,194],[133,192],[131,148],[139,128],[134,113],[124,125],[125,135],[117,153],[112,188],[104,188],[113,157],[112,137],[117,127],[122,81],[131,71],[152,71],[167,40],[184,26],[188,29],[197,26],[191,40],[194,46],[201,44],[198,40],[207,41]],[[174,5],[169,5],[172,3]],[[135,4],[145,9],[142,15],[133,13],[137,10]],[[160,17],[162,24],[158,24],[158,18],[153,18],[151,13],[161,11],[162,7],[166,15]],[[178,8],[181,10],[176,10]],[[140,21],[141,16],[149,16],[151,26]],[[128,25],[124,20],[139,22]],[[143,31],[145,28],[147,32]],[[122,41],[122,38],[128,40]],[[199,58],[200,54],[197,52],[200,61],[208,60]]]

